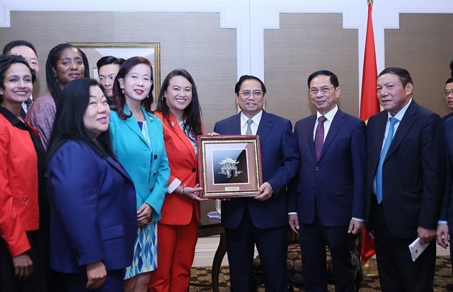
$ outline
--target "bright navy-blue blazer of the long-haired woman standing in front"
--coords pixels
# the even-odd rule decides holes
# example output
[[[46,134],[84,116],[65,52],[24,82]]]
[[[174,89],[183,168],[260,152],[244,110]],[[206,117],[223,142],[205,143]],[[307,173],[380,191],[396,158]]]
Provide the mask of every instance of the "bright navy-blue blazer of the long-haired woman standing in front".
[[[102,260],[107,270],[132,262],[137,233],[132,180],[120,163],[68,141],[47,170],[51,194],[50,266],[62,273],[85,273]]]

